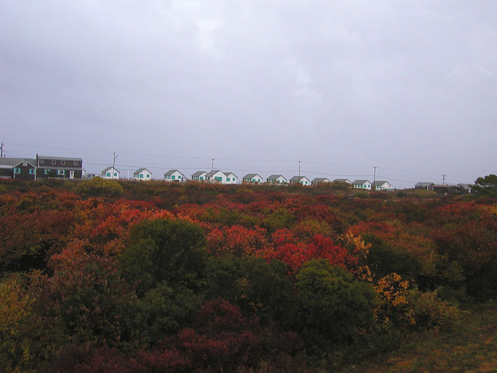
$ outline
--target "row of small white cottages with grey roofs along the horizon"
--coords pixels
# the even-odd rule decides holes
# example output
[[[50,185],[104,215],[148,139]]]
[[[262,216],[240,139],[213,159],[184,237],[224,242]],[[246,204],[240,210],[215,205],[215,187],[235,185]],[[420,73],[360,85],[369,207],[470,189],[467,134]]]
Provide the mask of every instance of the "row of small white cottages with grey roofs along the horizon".
[[[103,171],[101,171],[101,177],[105,179],[119,179],[119,170],[113,167],[107,167]],[[133,179],[139,181],[153,180],[152,173],[148,171],[148,169],[138,169],[133,172]],[[184,182],[187,178],[178,170],[169,170],[163,175],[163,180],[166,182]],[[238,178],[232,172],[223,172],[220,170],[213,170],[210,172],[206,171],[197,171],[191,175],[191,180],[198,182],[215,182],[218,184],[237,184]],[[369,180],[354,180],[351,182],[349,179],[335,179],[329,180],[328,178],[314,178],[313,180],[309,180],[306,176],[293,176],[290,180],[286,179],[283,175],[271,175],[266,178],[262,178],[258,173],[247,173],[242,178],[242,183],[250,183],[250,184],[262,184],[266,182],[267,184],[296,184],[300,183],[304,186],[321,184],[326,182],[344,182],[347,184],[351,184],[353,188],[371,190],[372,187],[375,187],[376,190],[382,191],[391,191],[393,188],[391,184],[384,180],[377,180],[375,182],[370,182]]]

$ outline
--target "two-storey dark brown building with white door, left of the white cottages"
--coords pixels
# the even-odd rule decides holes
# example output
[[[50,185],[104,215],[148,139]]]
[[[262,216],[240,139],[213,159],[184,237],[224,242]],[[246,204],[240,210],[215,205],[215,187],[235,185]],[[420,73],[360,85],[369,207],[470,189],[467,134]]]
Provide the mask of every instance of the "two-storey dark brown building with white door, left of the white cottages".
[[[46,157],[37,155],[37,179],[41,178],[83,178],[83,160],[70,157]]]

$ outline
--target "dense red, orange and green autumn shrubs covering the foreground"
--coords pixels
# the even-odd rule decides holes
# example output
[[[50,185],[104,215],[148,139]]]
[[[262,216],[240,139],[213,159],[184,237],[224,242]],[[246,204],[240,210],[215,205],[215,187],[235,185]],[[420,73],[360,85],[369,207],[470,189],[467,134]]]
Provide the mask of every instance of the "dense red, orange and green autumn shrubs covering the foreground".
[[[6,372],[495,366],[494,198],[10,181],[0,237]]]

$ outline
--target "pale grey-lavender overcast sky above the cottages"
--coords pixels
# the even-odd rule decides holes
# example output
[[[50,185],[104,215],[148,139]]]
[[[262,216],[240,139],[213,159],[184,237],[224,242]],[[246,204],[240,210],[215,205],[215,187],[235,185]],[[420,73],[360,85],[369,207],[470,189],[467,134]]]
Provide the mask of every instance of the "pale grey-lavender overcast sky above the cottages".
[[[302,160],[472,182],[497,173],[496,19],[496,1],[2,0],[0,142],[155,178],[214,157],[240,178]]]

